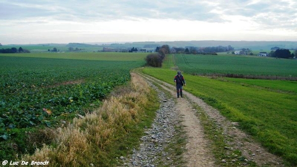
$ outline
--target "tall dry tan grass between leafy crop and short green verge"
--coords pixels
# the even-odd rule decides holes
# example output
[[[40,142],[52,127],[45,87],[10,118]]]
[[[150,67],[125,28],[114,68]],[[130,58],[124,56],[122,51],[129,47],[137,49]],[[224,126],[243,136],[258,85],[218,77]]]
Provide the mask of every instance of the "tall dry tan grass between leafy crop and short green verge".
[[[71,125],[51,133],[53,144],[44,145],[24,161],[49,161],[49,167],[90,166],[116,137],[127,133],[126,127],[139,121],[150,91],[148,84],[132,74],[131,91],[117,92],[103,101],[102,106],[84,118],[75,118]],[[94,155],[95,154],[95,155]]]

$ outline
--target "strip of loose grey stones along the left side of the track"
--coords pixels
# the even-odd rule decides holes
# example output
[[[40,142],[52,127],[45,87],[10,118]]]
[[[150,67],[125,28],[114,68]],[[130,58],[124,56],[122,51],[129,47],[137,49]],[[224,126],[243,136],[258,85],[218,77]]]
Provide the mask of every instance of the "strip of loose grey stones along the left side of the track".
[[[166,99],[163,91],[160,91],[152,83],[149,83],[157,90],[160,99],[160,108],[156,111],[151,128],[147,128],[138,149],[133,149],[129,157],[120,157],[124,161],[124,167],[156,167],[160,158],[171,161],[164,148],[175,134],[174,125],[179,124],[179,113],[175,101],[172,98]],[[165,162],[166,164],[166,162]]]

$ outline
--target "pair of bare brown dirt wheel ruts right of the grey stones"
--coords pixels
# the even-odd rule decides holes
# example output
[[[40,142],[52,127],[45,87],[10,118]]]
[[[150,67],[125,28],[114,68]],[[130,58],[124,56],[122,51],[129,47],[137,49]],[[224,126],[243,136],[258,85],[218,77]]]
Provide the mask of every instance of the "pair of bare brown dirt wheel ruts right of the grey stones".
[[[173,96],[176,96],[175,86],[144,74],[141,75],[150,82],[156,83],[165,90],[168,90]],[[185,130],[189,136],[189,141],[186,145],[188,151],[184,156],[188,167],[216,166],[214,165],[215,160],[207,147],[207,139],[203,136],[204,134],[202,127],[199,124],[199,119],[195,115],[195,111],[190,108],[191,103],[198,105],[217,126],[223,128],[224,141],[226,144],[228,144],[232,150],[240,150],[242,155],[246,157],[246,162],[253,162],[257,166],[284,167],[280,157],[269,153],[259,143],[255,142],[251,136],[238,129],[236,127],[238,123],[231,123],[223,117],[218,110],[207,105],[191,93],[184,90],[183,93],[187,98],[179,98],[177,100],[177,105],[180,106],[180,112],[184,115],[183,124],[186,125]],[[216,162],[220,161],[221,160],[217,160]],[[247,165],[247,163],[243,162],[242,165]]]

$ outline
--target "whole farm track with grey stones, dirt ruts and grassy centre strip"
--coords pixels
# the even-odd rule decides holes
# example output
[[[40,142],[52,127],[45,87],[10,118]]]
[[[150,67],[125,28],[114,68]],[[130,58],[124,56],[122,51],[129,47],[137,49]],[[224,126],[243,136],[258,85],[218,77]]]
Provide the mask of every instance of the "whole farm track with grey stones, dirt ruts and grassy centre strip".
[[[162,103],[159,110],[163,113],[157,111],[152,128],[142,137],[140,148],[135,149],[133,155],[121,158],[125,167],[284,167],[281,158],[268,153],[239,130],[238,123],[231,123],[198,97],[184,91],[186,97],[176,98],[173,85],[145,74],[138,75],[158,91]],[[168,123],[166,127],[164,122]],[[182,130],[176,127],[182,127]],[[183,135],[185,142],[179,145]],[[172,143],[179,148],[174,150],[170,146]],[[177,151],[181,151],[180,157]]]

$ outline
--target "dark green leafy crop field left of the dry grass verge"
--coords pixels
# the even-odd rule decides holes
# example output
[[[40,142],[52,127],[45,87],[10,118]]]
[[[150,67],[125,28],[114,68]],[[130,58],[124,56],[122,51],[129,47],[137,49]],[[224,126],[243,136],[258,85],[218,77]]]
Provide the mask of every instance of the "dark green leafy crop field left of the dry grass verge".
[[[0,141],[92,111],[115,86],[130,80],[130,70],[143,66],[145,55],[1,54]],[[11,150],[0,148],[0,157],[7,157]]]

